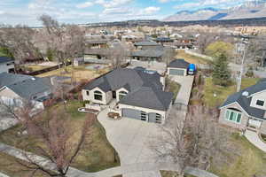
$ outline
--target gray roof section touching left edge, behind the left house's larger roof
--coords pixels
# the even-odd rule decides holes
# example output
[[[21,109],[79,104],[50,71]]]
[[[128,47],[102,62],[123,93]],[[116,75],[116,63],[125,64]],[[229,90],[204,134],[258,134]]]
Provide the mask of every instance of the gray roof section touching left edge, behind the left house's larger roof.
[[[14,83],[25,81],[33,78],[29,75],[13,74],[13,73],[0,73],[0,89],[4,86],[9,86]]]

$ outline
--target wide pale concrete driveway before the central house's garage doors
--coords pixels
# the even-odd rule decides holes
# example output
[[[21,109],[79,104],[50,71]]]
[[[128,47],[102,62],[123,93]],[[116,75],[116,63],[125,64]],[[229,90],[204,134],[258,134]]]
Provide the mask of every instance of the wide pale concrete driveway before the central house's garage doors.
[[[121,167],[156,161],[156,156],[149,149],[148,144],[153,137],[160,134],[158,125],[137,119],[107,119],[107,109],[98,114],[98,120],[106,129],[107,139],[119,154]],[[126,175],[126,177],[131,176],[157,177],[160,175],[158,172],[138,172]]]

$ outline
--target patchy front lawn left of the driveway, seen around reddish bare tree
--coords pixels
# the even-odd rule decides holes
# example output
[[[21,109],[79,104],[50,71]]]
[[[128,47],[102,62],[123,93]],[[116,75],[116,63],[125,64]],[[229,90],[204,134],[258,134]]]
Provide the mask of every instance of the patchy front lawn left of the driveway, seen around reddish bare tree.
[[[51,109],[59,109],[61,106],[63,105],[57,104]],[[77,141],[81,134],[83,122],[88,116],[86,113],[77,112],[77,108],[79,107],[82,107],[82,104],[75,101],[69,102],[66,107],[66,112],[71,115],[71,118],[66,119],[66,121],[69,121],[75,132],[71,139],[73,143]],[[25,148],[26,145],[30,144],[38,144],[44,147],[43,142],[40,140],[28,135],[19,136],[18,131],[21,131],[20,125],[4,131],[0,135],[0,141],[20,149]],[[114,160],[115,158],[116,162]],[[117,165],[120,165],[117,153],[107,141],[104,127],[96,121],[91,128],[91,134],[86,136],[82,150],[75,158],[72,166],[86,172],[98,172]]]

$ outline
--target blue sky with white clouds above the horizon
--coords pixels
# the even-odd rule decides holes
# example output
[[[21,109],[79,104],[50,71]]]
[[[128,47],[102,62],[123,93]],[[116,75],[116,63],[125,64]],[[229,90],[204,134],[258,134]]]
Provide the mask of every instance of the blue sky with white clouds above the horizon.
[[[0,23],[40,26],[45,13],[66,23],[163,19],[182,10],[229,8],[248,0],[0,0]]]

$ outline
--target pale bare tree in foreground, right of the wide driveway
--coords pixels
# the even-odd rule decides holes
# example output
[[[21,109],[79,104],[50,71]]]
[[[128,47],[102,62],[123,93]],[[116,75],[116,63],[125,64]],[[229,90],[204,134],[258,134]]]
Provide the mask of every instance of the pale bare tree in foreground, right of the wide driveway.
[[[171,160],[180,177],[186,166],[207,169],[212,160],[223,158],[223,151],[228,150],[230,134],[217,125],[212,113],[197,106],[184,118],[173,107],[168,123],[161,127],[162,135],[151,141],[158,158]]]

